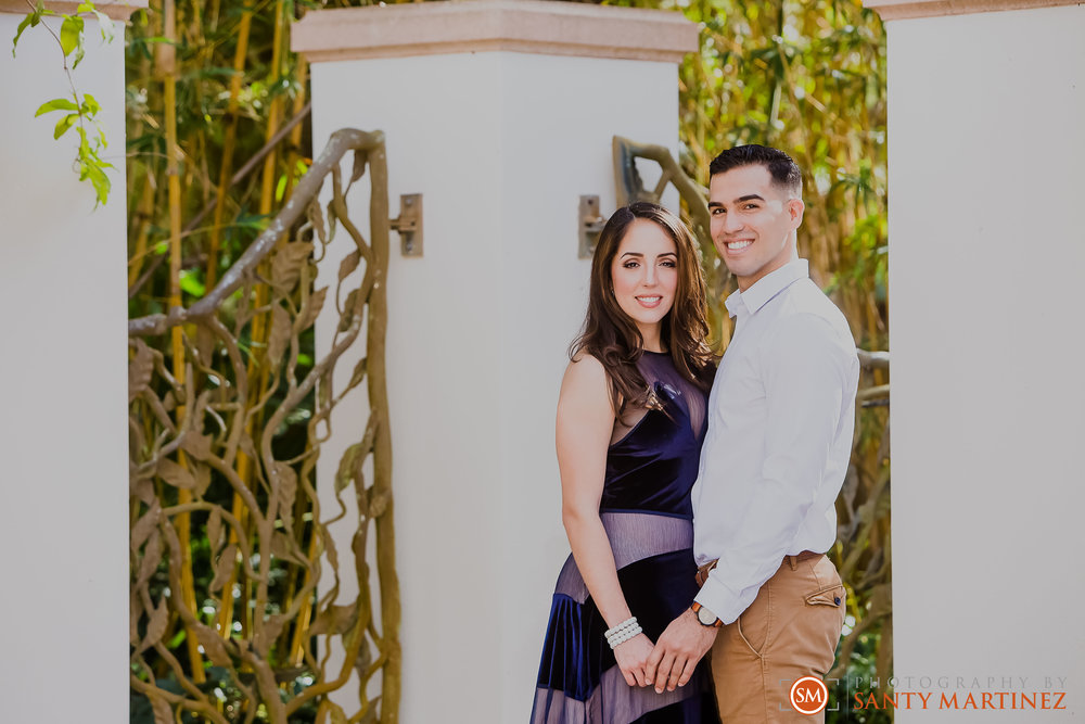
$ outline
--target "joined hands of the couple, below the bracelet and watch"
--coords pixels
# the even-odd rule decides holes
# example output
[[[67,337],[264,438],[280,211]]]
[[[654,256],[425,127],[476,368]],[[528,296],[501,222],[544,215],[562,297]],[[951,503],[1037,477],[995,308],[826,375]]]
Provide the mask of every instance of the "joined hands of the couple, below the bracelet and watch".
[[[702,625],[692,610],[686,609],[671,622],[660,640],[639,634],[614,649],[622,675],[629,686],[655,686],[658,694],[685,686],[716,640],[719,630]]]

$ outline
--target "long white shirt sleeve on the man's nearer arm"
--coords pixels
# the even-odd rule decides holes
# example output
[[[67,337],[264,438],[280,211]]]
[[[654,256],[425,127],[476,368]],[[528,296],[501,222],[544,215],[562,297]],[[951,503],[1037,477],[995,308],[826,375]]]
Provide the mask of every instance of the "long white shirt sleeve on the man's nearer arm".
[[[819,498],[846,396],[855,393],[854,346],[817,314],[778,320],[758,347],[766,407],[760,478],[735,481],[749,486],[744,509],[733,511],[740,525],[695,597],[724,623],[753,602],[784,556],[800,552],[792,545]]]

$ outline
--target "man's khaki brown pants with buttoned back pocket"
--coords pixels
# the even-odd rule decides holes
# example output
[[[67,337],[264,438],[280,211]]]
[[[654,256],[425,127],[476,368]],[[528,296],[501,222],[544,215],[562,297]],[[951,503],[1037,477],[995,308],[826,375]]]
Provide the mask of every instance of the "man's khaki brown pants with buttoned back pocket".
[[[824,710],[810,716],[791,706],[791,685],[829,672],[843,623],[844,587],[832,561],[786,558],[712,647],[723,724],[824,722]]]

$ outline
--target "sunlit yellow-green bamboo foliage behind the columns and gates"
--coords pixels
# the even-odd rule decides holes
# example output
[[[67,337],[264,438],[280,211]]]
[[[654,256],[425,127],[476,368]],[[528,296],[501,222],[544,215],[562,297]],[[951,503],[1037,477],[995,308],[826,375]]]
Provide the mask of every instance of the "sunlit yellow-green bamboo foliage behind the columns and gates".
[[[308,9],[352,4],[369,3],[152,0],[132,16],[125,36],[130,316],[201,299],[281,207],[311,163],[307,67],[288,50],[291,24]],[[700,24],[700,52],[679,74],[682,167],[706,185],[709,162],[729,145],[758,142],[792,154],[806,173],[801,253],[844,310],[857,344],[888,348],[885,40],[877,15],[857,0],[613,4],[682,12]],[[718,282],[717,265],[705,259]],[[716,283],[713,291],[715,341],[723,348],[729,326],[722,302],[731,290]],[[266,333],[254,329],[250,343],[266,342],[259,339]],[[169,365],[176,347],[168,338],[153,342]],[[298,357],[303,372],[312,354],[309,332]],[[832,673],[841,679],[884,681],[892,661],[885,384],[886,370],[864,372],[860,386],[880,392],[865,401],[870,406],[860,412],[838,504],[833,557],[850,586],[851,628]],[[304,447],[305,427],[304,416],[289,419],[278,444]],[[206,532],[196,526],[192,535],[186,580],[193,592],[206,590],[215,575]],[[157,575],[165,586],[165,568]],[[217,606],[215,597],[208,600]],[[180,632],[171,638],[176,656],[193,665],[199,659],[187,646]],[[163,660],[150,656],[149,662],[168,678]],[[132,720],[151,716],[136,696]],[[860,721],[858,712],[838,716]]]

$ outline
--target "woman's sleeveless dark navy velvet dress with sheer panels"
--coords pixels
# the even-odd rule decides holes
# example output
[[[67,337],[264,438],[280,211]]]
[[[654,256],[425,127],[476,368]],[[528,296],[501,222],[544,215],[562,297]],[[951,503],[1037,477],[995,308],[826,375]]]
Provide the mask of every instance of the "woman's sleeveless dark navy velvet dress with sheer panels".
[[[608,449],[599,517],[629,610],[655,642],[698,590],[690,490],[706,396],[664,353],[644,352],[637,365],[654,399]],[[630,687],[607,628],[570,556],[551,602],[532,724],[718,724],[703,661],[674,691]]]

